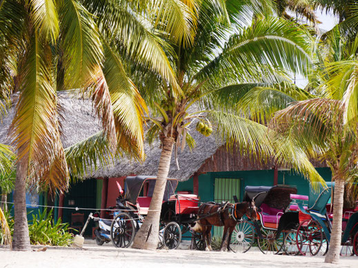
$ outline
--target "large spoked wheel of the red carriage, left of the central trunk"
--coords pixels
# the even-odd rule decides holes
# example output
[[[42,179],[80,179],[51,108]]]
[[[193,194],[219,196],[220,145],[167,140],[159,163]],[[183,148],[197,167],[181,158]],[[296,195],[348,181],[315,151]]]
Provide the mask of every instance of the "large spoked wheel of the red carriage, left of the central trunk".
[[[126,212],[121,212],[110,225],[110,240],[115,247],[130,247],[135,238],[135,222]]]

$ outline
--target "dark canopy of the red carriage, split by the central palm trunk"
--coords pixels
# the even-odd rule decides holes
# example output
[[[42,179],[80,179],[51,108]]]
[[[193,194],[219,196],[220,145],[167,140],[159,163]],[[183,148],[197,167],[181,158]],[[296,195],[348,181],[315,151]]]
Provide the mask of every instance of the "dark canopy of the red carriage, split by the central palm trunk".
[[[126,200],[130,203],[137,203],[137,198],[141,192],[141,188],[146,181],[149,182],[148,196],[152,197],[155,187],[156,176],[128,176],[126,178]],[[163,200],[168,201],[170,196],[175,193],[177,189],[178,180],[176,178],[167,178],[166,191],[164,192]]]

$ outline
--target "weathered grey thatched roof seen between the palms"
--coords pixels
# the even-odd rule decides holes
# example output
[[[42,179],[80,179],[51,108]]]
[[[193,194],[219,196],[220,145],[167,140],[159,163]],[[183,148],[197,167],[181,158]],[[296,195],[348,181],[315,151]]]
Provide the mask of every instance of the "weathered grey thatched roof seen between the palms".
[[[59,103],[63,109],[63,112],[61,112],[62,118],[60,118],[63,147],[66,148],[74,145],[101,130],[101,125],[92,110],[90,101],[72,99],[68,94],[59,94],[59,96]],[[14,99],[16,99],[16,96]],[[3,121],[0,122],[0,143],[11,144],[8,138],[8,129],[14,118],[15,105],[16,101],[14,101],[14,104],[8,111],[8,114],[3,118]],[[195,128],[194,123],[192,124],[192,128]],[[190,152],[188,146],[186,146],[183,152],[178,150],[180,170],[177,170],[175,165],[173,151],[169,173],[169,176],[172,178],[179,178],[181,180],[190,178],[190,176],[203,165],[204,161],[210,158],[221,145],[215,141],[213,136],[205,137],[197,131],[192,131],[190,134],[197,142],[197,146],[192,152]],[[128,158],[121,158],[120,161],[116,161],[114,164],[108,165],[108,167],[99,168],[96,172],[88,174],[88,177],[120,177],[130,174],[156,176],[161,154],[159,141],[156,141],[153,145],[146,144],[145,152],[147,157],[143,163],[138,163]]]

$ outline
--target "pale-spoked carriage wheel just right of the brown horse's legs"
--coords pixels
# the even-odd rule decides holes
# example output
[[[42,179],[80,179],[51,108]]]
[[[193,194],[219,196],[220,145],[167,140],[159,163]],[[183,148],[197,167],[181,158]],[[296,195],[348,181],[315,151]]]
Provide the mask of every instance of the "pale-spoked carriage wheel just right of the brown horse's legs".
[[[254,227],[247,220],[240,220],[232,232],[230,249],[234,252],[245,253],[255,240]]]

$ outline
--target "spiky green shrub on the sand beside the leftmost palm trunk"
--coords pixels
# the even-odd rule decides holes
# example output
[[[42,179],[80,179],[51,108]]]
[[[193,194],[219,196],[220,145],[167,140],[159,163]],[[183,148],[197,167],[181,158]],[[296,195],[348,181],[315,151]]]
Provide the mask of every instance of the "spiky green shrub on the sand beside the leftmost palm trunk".
[[[39,216],[32,215],[28,230],[32,245],[68,246],[72,242],[68,223],[61,223],[61,219],[54,223],[52,209],[50,212],[45,209]]]

